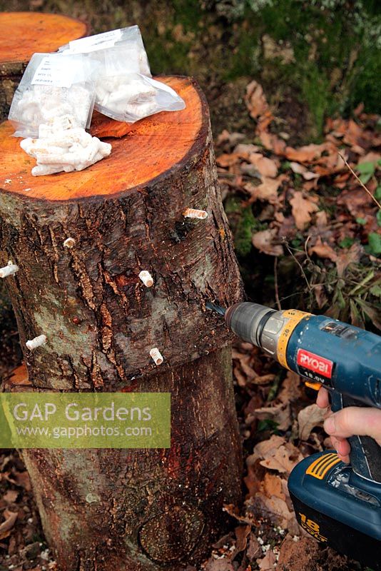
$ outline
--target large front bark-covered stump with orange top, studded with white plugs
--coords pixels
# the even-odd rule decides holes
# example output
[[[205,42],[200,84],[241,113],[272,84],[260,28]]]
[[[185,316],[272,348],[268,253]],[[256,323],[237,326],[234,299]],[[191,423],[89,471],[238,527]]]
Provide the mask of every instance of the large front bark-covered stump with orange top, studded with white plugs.
[[[32,177],[34,160],[0,126],[0,261],[20,268],[6,283],[31,390],[172,398],[171,449],[24,450],[64,571],[198,564],[224,503],[240,498],[230,333],[205,310],[240,300],[240,276],[205,98],[191,79],[162,81],[186,109],[132,126],[98,118],[98,133],[127,134],[79,173]],[[184,218],[188,207],[208,218]],[[30,353],[26,340],[41,333],[48,343]]]

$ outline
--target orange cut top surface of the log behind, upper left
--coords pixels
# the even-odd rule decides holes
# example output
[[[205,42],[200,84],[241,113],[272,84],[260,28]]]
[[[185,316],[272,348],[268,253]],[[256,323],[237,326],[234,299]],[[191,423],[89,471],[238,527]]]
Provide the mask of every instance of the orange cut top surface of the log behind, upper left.
[[[86,34],[86,24],[61,14],[1,12],[0,65],[29,61],[36,51],[56,51]]]

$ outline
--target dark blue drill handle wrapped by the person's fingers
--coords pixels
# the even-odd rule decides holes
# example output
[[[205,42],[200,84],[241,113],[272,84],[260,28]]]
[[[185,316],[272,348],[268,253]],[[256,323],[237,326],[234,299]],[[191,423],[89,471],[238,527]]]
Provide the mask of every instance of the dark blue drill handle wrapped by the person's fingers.
[[[347,406],[364,407],[358,400],[331,392],[332,411],[335,413]],[[381,446],[370,436],[352,436],[350,443],[350,463],[353,471],[366,480],[381,483]]]

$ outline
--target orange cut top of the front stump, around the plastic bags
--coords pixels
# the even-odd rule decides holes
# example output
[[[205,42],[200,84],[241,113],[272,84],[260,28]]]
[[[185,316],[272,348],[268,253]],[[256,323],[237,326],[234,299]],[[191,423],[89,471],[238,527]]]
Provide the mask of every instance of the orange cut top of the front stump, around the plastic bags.
[[[176,166],[198,143],[200,130],[208,124],[208,110],[202,92],[192,79],[158,79],[177,91],[186,102],[186,108],[163,111],[133,125],[121,125],[105,117],[108,133],[115,132],[119,138],[106,138],[113,146],[111,155],[84,171],[32,176],[36,160],[20,148],[21,138],[11,136],[14,132],[11,123],[1,123],[0,200],[3,192],[48,201],[111,196],[147,183]],[[122,137],[121,127],[128,131]],[[100,123],[97,128],[99,132]]]

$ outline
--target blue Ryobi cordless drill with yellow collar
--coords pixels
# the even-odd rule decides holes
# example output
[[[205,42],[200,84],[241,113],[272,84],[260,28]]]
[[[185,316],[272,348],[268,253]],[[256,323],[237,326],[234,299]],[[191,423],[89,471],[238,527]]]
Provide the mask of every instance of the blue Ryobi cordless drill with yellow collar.
[[[310,388],[327,388],[333,411],[381,408],[379,335],[325,315],[258,303],[206,307]],[[329,450],[313,454],[295,466],[288,489],[298,522],[310,535],[381,571],[381,447],[367,436],[349,440],[350,465]]]

